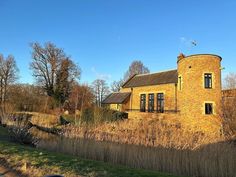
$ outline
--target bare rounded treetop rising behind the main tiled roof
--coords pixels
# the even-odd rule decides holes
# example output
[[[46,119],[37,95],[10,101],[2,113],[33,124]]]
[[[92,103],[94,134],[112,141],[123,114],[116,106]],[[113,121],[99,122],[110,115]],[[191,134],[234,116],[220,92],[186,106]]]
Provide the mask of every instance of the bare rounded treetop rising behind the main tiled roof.
[[[132,77],[135,74],[145,74],[145,73],[150,73],[149,69],[146,66],[144,66],[144,64],[141,61],[135,60],[129,66],[128,71],[126,71],[124,75],[124,81],[127,81],[130,77]]]

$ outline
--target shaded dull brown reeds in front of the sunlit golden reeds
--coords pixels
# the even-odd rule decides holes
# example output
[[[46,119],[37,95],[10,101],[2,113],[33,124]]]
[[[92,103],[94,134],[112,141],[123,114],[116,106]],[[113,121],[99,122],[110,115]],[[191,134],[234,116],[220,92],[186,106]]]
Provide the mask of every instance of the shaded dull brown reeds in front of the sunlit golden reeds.
[[[235,177],[236,174],[236,147],[232,143],[226,142],[209,144],[190,150],[48,136],[44,137],[38,146],[86,159],[176,175]]]

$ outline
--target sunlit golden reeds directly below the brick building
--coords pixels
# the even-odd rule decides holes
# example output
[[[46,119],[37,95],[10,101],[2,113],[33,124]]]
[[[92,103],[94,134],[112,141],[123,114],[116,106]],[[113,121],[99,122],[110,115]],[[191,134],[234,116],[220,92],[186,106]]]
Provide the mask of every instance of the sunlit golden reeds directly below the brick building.
[[[218,126],[212,122],[185,122],[168,115],[161,119],[128,119],[90,126],[65,126],[69,138],[86,138],[151,147],[195,149],[201,145],[222,141]],[[195,126],[194,126],[195,125]],[[199,127],[200,126],[200,127]]]

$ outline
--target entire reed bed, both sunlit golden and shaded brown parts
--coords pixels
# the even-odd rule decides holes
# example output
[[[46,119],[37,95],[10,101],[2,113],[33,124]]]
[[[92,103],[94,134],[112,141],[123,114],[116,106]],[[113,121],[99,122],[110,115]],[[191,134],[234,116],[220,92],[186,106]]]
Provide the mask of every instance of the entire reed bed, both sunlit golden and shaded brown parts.
[[[63,131],[55,136],[32,129],[41,137],[38,147],[52,151],[177,175],[236,176],[236,145],[224,142],[215,120],[167,115],[67,125]]]

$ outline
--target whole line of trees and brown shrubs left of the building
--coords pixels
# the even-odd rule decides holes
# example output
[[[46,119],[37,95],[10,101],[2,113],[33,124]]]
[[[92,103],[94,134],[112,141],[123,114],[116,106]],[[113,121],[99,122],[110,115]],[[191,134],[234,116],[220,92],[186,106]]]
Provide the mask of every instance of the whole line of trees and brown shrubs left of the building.
[[[106,80],[96,79],[92,84],[80,83],[81,68],[62,48],[51,42],[30,44],[30,70],[35,84],[17,83],[19,69],[14,56],[0,54],[0,109],[11,111],[82,110],[102,106],[102,100],[117,92],[134,74],[149,73],[144,64],[135,60],[124,77],[110,86]]]

